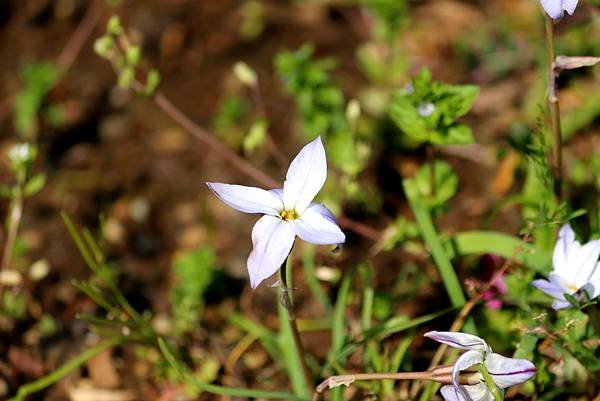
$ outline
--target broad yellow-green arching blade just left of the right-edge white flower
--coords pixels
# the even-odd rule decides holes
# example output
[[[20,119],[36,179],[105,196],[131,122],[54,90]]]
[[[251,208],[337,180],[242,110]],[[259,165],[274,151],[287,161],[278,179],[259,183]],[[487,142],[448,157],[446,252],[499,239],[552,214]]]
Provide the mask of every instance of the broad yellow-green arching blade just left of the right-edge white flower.
[[[552,263],[550,252],[538,250],[520,238],[495,231],[464,231],[455,234],[445,245],[451,258],[492,253],[507,259],[514,257],[518,263],[538,272],[546,272]]]

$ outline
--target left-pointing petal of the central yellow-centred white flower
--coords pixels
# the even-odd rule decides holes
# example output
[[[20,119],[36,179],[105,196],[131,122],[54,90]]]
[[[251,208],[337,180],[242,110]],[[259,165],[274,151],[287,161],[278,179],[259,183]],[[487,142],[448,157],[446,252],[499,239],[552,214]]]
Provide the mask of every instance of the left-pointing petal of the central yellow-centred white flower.
[[[281,199],[264,189],[216,182],[207,182],[206,185],[219,199],[240,212],[278,216],[283,209]]]

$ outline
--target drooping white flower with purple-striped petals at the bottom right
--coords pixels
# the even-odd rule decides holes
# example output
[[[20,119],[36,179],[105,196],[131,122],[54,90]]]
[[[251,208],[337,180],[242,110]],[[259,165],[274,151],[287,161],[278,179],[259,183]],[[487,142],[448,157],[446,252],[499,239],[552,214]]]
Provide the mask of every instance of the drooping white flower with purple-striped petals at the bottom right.
[[[507,358],[492,352],[487,343],[474,335],[451,331],[430,331],[425,337],[451,347],[466,350],[454,363],[452,385],[441,388],[446,401],[494,401],[494,396],[477,369],[470,367],[483,363],[496,386],[505,388],[523,383],[535,375],[536,368],[527,359]],[[461,372],[469,369],[469,384],[461,384]],[[463,380],[464,382],[464,380]]]

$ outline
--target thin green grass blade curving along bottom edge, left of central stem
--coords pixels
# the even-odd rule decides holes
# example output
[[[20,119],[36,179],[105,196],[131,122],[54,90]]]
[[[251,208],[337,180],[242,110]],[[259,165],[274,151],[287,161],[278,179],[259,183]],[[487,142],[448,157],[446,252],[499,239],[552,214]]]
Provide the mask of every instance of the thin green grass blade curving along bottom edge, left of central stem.
[[[290,401],[307,401],[308,397],[297,397],[293,394],[286,393],[283,391],[268,391],[268,390],[256,390],[248,388],[236,388],[236,387],[225,387],[217,384],[203,383],[196,379],[181,362],[177,361],[169,345],[163,338],[158,339],[158,347],[160,352],[165,357],[166,361],[171,367],[179,374],[181,379],[187,383],[196,387],[200,391],[206,391],[208,393],[224,395],[229,397],[244,397],[244,398],[266,398],[266,399],[279,399],[279,400],[290,400]]]

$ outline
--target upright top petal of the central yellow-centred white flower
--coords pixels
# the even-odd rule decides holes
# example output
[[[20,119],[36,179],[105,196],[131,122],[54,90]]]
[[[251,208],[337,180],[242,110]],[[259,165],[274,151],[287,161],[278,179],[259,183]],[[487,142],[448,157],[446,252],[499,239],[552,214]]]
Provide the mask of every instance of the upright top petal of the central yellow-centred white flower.
[[[327,159],[321,137],[304,146],[292,160],[283,184],[286,210],[302,214],[323,187],[327,178]]]

